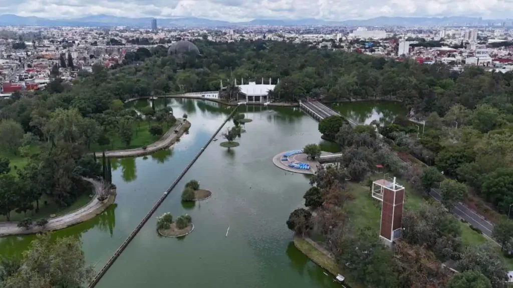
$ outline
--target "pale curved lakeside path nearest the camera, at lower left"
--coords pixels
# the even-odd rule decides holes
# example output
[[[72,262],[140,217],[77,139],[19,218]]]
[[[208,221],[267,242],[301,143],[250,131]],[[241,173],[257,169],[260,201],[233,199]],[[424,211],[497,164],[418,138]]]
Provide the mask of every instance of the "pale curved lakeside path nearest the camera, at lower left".
[[[32,225],[30,229],[25,229],[23,227],[17,227],[18,222],[1,222],[0,236],[34,234],[64,229],[66,227],[70,227],[71,225],[78,224],[93,218],[94,216],[102,213],[107,207],[110,206],[110,204],[114,202],[114,195],[110,195],[108,200],[104,201],[103,203],[98,201],[97,196],[103,193],[105,189],[107,189],[103,182],[85,177],[82,179],[93,184],[94,190],[96,191],[96,194],[92,200],[85,206],[71,213],[48,219],[48,223],[44,228]]]

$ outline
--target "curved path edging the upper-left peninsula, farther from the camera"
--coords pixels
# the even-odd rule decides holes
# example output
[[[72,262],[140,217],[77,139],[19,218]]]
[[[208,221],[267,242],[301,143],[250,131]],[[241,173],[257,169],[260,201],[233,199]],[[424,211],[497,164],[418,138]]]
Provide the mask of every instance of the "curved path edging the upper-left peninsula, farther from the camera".
[[[155,151],[159,151],[161,149],[167,148],[171,146],[176,139],[184,134],[185,130],[191,126],[190,122],[183,119],[176,119],[175,125],[173,125],[167,132],[160,138],[159,140],[151,143],[146,146],[146,149],[143,148],[135,148],[135,149],[127,149],[127,150],[114,150],[114,151],[105,151],[106,157],[133,157],[133,156],[141,156],[146,154],[151,154]],[[178,133],[174,132],[178,131]],[[101,154],[101,152],[98,152]]]

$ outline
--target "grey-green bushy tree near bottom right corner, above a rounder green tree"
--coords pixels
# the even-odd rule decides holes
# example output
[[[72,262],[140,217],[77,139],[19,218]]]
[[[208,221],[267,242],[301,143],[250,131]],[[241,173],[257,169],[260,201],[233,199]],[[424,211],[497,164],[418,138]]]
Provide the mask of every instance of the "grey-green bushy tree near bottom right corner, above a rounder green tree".
[[[468,246],[461,260],[456,262],[456,268],[460,272],[479,271],[496,286],[507,279],[506,265],[490,244]]]

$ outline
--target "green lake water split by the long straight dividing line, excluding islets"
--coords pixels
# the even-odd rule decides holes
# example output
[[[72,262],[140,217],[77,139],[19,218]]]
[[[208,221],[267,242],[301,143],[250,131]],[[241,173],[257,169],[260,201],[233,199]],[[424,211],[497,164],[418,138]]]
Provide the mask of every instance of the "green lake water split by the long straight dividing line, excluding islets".
[[[149,100],[137,100],[127,105],[140,109],[148,104]],[[155,100],[157,108],[164,105],[172,107],[177,117],[187,113],[192,124],[189,134],[172,148],[151,156],[112,161],[115,204],[90,221],[53,234],[80,237],[86,261],[96,270],[233,109],[203,100]],[[400,104],[384,102],[347,103],[333,108],[365,123],[404,114]],[[318,122],[299,108],[239,109],[253,120],[244,126],[247,133],[236,140],[241,145],[222,148],[218,136],[220,140],[207,147],[97,287],[340,287],[295,249],[292,232],[285,224],[290,212],[303,206],[308,178],[286,173],[271,161],[275,154],[307,143],[320,143],[323,150],[331,152],[338,147],[322,140]],[[223,130],[231,126],[229,121]],[[202,188],[212,191],[212,197],[183,204],[181,192],[190,179],[199,180]],[[173,217],[191,215],[194,231],[182,239],[159,237],[156,217],[164,212]],[[0,254],[20,254],[33,238],[0,238]]]

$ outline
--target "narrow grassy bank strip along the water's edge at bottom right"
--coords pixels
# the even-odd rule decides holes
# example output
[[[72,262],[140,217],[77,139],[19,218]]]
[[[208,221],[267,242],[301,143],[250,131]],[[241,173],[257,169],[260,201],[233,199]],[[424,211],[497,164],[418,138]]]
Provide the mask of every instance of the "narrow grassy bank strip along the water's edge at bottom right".
[[[322,252],[317,250],[314,246],[312,246],[310,243],[308,243],[305,239],[300,237],[294,237],[294,245],[296,248],[298,248],[299,251],[301,251],[303,254],[305,254],[310,260],[321,266],[322,268],[326,269],[331,273],[332,275],[343,275],[346,277],[344,280],[344,283],[347,283],[349,286],[353,288],[360,288],[363,287],[359,283],[352,282],[350,279],[347,278],[348,273],[344,271],[336,261],[329,258],[328,256],[324,255]]]

